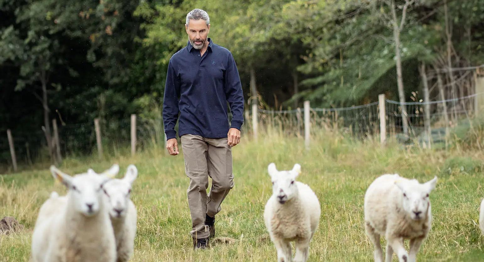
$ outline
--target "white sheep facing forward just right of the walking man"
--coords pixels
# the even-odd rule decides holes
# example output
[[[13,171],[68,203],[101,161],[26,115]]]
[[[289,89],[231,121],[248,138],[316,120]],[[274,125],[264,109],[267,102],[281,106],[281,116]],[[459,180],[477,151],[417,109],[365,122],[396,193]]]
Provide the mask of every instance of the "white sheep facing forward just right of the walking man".
[[[278,262],[305,262],[309,257],[309,243],[318,228],[321,208],[314,192],[308,185],[295,181],[301,166],[292,170],[278,171],[274,163],[268,166],[272,180],[272,196],[264,209],[267,231],[277,251]]]

